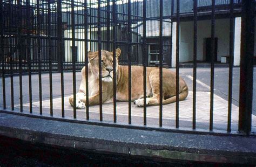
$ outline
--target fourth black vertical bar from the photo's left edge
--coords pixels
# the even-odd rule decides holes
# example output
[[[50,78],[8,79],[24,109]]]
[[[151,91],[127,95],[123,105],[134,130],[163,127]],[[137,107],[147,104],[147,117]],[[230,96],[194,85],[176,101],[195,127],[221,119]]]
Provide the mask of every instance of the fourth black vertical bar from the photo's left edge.
[[[28,54],[28,73],[29,73],[29,112],[32,113],[32,83],[31,83],[31,52],[30,52],[30,1],[26,0],[26,53]]]

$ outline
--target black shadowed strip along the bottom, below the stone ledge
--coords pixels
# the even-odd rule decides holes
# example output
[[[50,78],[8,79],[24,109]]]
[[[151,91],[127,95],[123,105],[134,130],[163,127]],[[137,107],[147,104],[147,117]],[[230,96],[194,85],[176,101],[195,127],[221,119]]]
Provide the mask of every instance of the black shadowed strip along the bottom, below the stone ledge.
[[[173,161],[171,163],[52,145],[25,142],[0,136],[0,166],[212,166],[210,163]],[[219,164],[220,165],[220,164]]]

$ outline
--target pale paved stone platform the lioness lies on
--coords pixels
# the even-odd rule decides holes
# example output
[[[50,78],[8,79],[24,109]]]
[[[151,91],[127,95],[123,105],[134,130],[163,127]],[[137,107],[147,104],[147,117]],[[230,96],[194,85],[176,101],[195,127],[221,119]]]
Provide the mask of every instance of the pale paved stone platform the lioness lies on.
[[[193,92],[189,92],[188,97],[179,104],[179,120],[181,129],[191,129],[192,126],[192,102]],[[65,96],[65,115],[72,119],[73,108],[68,102],[69,96]],[[210,92],[197,92],[197,124],[198,130],[207,130],[210,122]],[[53,99],[53,111],[55,116],[60,116],[61,98]],[[29,103],[24,104],[24,107],[29,108]],[[214,130],[226,130],[227,128],[227,101],[214,95],[214,113],[213,125]],[[39,101],[33,102],[33,111],[38,113]],[[50,100],[43,101],[43,110],[49,111]],[[86,115],[85,109],[77,109],[77,119],[84,120]],[[159,122],[159,106],[150,106],[146,110],[147,126],[157,127]],[[46,112],[44,114],[49,114]],[[143,108],[136,107],[132,103],[132,124],[138,126],[143,125]],[[89,107],[90,120],[99,120],[99,106]],[[174,128],[176,119],[176,103],[163,106],[163,125],[164,128]],[[103,105],[103,120],[111,122],[113,120],[113,103],[106,103]],[[128,120],[128,102],[117,102],[117,122],[120,124],[127,124]],[[253,122],[256,122],[256,116],[252,115]],[[232,105],[232,130],[236,131],[238,128],[238,107]],[[253,124],[253,130],[256,125]]]

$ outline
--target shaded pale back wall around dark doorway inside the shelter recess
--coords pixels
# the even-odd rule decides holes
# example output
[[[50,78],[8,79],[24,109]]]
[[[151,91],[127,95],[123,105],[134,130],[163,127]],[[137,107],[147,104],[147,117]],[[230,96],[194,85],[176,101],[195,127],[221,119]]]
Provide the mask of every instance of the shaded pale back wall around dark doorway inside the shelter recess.
[[[180,62],[193,60],[193,22],[180,23]],[[218,57],[229,55],[229,19],[215,20],[215,37],[218,38]],[[211,20],[198,21],[197,60],[204,61],[204,39],[211,38]]]

